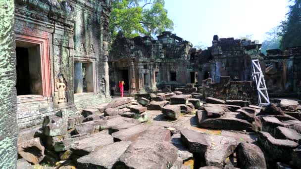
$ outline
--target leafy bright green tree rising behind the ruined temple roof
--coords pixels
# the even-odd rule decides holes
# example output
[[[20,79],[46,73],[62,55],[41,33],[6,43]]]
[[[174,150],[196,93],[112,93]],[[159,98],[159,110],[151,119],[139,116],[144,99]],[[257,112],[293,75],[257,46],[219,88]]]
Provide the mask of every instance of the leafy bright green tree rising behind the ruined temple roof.
[[[173,29],[164,0],[113,0],[110,33],[114,39],[119,31],[125,37],[155,36]]]

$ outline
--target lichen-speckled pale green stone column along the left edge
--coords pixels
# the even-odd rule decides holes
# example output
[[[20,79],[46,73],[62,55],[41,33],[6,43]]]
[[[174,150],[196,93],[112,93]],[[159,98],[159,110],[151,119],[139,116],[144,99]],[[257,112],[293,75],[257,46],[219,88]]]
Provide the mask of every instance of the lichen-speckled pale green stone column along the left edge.
[[[14,0],[0,0],[0,169],[17,160],[17,91]]]

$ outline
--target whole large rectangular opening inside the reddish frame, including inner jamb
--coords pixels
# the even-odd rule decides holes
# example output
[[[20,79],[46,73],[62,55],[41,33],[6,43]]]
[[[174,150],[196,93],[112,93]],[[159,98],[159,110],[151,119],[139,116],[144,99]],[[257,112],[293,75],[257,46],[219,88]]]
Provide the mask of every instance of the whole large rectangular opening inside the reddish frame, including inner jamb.
[[[43,95],[40,44],[16,40],[17,95]]]

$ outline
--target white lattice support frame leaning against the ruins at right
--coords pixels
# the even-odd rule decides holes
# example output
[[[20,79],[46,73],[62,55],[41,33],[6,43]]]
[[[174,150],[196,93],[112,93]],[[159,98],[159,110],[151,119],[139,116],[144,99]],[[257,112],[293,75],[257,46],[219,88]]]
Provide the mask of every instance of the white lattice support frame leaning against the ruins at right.
[[[259,105],[270,104],[269,95],[267,93],[267,87],[265,85],[265,80],[258,59],[252,60],[252,77],[257,87],[258,104]]]

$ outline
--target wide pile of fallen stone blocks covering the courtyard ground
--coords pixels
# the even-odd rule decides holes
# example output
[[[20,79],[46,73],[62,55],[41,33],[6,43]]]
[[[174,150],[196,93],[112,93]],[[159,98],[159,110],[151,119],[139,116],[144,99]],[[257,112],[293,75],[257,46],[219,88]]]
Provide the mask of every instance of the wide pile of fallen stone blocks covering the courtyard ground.
[[[79,116],[47,116],[41,128],[19,135],[18,169],[41,163],[55,166],[50,169],[301,168],[298,102],[260,107],[210,97],[203,103],[196,96],[139,94],[136,100],[117,98],[84,109]],[[151,112],[170,125],[151,123]],[[191,117],[189,126],[175,125],[185,117]],[[210,128],[221,131],[212,134]]]

